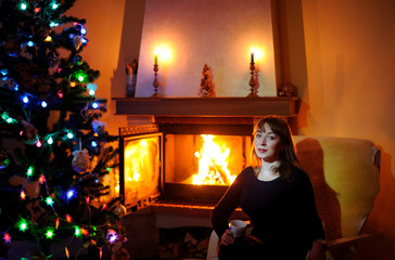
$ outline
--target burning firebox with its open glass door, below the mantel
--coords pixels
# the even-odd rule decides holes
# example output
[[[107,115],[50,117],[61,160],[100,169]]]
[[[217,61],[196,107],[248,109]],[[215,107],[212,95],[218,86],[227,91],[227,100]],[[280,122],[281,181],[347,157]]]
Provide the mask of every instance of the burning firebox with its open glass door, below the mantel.
[[[119,193],[125,205],[215,205],[250,164],[251,132],[252,126],[215,123],[122,129]]]

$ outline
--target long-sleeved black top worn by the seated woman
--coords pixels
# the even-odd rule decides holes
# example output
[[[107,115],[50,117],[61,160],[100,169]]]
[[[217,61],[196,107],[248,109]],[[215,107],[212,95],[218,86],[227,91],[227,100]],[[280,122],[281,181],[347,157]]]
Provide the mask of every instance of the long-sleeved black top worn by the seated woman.
[[[228,218],[240,206],[250,217],[251,235],[266,244],[308,251],[315,239],[324,238],[308,176],[296,167],[292,174],[290,182],[281,178],[259,181],[252,167],[245,168],[213,210],[217,235],[221,237]]]

